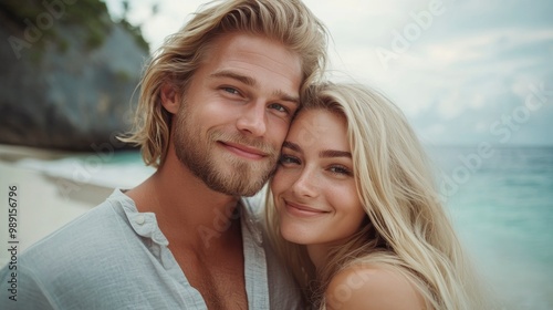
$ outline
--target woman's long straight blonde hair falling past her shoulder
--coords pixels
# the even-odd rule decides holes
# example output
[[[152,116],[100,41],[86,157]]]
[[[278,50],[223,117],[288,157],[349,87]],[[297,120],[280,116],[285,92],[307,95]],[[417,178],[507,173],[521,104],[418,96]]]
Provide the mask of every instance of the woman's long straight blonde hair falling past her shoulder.
[[[304,246],[281,237],[268,195],[270,239],[307,300],[324,309],[332,277],[348,266],[368,264],[404,275],[429,309],[490,309],[439,200],[425,151],[401,111],[363,85],[328,83],[311,92],[303,110],[323,108],[347,120],[356,187],[367,219],[332,250],[325,268],[315,270]]]

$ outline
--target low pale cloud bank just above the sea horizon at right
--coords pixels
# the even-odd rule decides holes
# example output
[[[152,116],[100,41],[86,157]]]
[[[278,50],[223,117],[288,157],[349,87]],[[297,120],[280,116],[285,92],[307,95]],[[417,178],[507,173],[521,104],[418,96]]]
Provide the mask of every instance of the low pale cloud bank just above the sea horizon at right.
[[[442,102],[435,102],[410,121],[434,144],[552,145],[553,84],[531,83],[520,92],[493,95],[489,104],[456,111],[449,121],[441,115]]]

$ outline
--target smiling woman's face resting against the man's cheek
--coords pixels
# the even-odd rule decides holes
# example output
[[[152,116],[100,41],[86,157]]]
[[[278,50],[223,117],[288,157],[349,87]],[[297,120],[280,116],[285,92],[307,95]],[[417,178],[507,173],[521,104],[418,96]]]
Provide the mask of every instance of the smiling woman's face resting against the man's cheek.
[[[352,151],[343,116],[302,111],[282,146],[271,183],[284,239],[336,245],[366,217],[355,188]]]

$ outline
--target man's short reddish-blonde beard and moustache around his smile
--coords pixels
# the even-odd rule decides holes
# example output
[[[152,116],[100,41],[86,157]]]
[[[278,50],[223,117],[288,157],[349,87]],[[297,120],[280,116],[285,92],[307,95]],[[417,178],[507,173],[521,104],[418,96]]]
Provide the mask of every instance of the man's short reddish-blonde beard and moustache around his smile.
[[[186,104],[185,102],[182,103]],[[209,188],[231,196],[253,196],[274,172],[279,149],[240,132],[226,133],[211,130],[206,135],[194,130],[184,106],[174,120],[174,143],[177,158]],[[231,142],[254,147],[269,154],[259,162],[239,158],[230,152],[217,149],[217,142]]]

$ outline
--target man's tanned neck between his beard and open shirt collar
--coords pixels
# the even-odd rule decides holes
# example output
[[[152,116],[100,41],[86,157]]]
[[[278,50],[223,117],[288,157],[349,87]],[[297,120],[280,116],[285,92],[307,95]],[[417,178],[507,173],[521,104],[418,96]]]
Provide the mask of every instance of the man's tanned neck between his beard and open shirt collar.
[[[159,228],[174,246],[209,248],[225,244],[233,237],[230,232],[237,231],[231,229],[236,227],[231,223],[237,218],[240,197],[210,189],[170,156],[154,175],[126,194],[138,211],[156,214]]]

